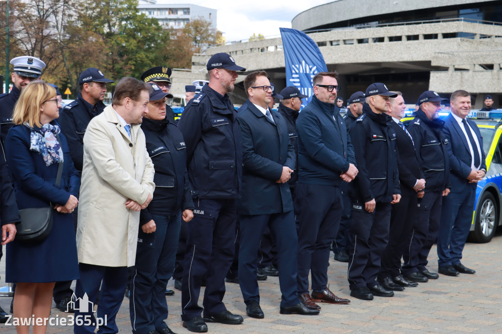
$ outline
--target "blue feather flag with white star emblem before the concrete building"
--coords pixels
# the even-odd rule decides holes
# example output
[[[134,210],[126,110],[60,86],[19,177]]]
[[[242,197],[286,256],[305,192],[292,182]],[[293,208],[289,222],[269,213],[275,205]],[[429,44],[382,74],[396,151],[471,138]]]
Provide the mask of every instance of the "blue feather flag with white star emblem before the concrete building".
[[[286,59],[286,86],[296,86],[312,99],[312,79],[318,72],[327,72],[326,63],[317,44],[307,34],[289,28],[279,28]]]

